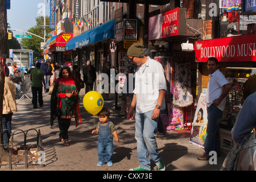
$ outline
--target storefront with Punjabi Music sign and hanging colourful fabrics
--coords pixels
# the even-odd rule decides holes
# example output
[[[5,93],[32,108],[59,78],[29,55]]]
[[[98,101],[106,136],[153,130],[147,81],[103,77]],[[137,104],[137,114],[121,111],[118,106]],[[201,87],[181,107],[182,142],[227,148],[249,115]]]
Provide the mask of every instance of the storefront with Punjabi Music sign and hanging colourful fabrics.
[[[188,21],[197,19],[186,19],[186,9],[179,7],[149,18],[147,55],[163,65],[167,81],[166,110],[160,115],[165,130],[191,129],[195,112],[197,63]]]

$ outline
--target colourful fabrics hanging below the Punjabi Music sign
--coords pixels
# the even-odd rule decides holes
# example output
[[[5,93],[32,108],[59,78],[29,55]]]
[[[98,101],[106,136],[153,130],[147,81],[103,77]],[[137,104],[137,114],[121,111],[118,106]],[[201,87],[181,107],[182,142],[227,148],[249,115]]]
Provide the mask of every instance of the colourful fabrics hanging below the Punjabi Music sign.
[[[189,63],[174,64],[174,57],[155,56],[163,65],[166,76],[167,92],[165,114],[160,114],[164,130],[184,129],[183,108],[193,104],[191,94],[191,71]]]

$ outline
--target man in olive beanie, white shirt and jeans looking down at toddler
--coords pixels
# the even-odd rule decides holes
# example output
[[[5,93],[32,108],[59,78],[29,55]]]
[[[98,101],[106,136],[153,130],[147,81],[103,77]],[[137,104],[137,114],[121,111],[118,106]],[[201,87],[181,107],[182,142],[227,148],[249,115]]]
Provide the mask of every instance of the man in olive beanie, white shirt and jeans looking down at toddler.
[[[165,170],[160,153],[157,151],[157,141],[154,130],[160,109],[165,109],[166,78],[162,65],[150,57],[146,57],[142,51],[143,45],[133,44],[127,51],[129,60],[136,64],[135,89],[133,101],[127,113],[127,119],[133,118],[135,114],[135,139],[137,140],[137,154],[140,166],[130,169],[131,171],[150,170],[150,160],[156,164],[158,171]]]

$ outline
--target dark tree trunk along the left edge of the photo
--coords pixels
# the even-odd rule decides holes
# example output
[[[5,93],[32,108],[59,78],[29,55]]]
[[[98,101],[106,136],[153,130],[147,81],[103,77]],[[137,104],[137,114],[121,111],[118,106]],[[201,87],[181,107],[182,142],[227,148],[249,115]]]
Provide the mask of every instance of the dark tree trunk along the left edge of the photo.
[[[3,88],[5,85],[4,68],[6,63],[6,52],[7,52],[7,10],[6,0],[0,0],[0,136],[1,144],[3,144],[3,128],[2,128],[2,117],[3,117]]]

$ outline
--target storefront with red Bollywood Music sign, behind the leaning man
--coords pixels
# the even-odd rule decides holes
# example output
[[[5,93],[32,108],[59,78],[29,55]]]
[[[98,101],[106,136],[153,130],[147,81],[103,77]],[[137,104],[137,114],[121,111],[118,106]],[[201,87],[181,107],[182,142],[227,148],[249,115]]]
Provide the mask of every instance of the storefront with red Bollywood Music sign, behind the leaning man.
[[[203,95],[207,89],[209,80],[207,59],[209,57],[218,59],[220,71],[232,85],[226,98],[226,107],[221,122],[221,149],[223,151],[229,151],[234,146],[231,129],[242,107],[243,85],[250,76],[255,76],[255,39],[256,34],[248,34],[195,42],[195,57],[199,64],[198,93]]]

